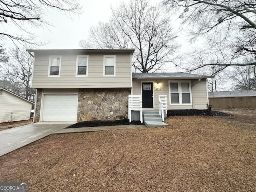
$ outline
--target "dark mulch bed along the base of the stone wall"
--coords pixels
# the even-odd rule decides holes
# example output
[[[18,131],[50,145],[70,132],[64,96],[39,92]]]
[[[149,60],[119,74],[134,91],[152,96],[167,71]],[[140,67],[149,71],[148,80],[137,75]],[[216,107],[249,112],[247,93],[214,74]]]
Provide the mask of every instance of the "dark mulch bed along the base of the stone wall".
[[[142,125],[140,121],[129,122],[128,119],[116,120],[116,121],[82,121],[66,128],[78,128],[78,127],[100,127],[100,126],[114,126],[114,125]]]

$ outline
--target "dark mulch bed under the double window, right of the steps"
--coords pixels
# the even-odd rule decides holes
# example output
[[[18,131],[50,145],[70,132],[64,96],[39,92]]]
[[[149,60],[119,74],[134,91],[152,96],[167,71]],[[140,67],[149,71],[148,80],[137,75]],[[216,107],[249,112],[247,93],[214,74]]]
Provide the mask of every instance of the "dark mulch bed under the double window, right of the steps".
[[[168,116],[194,116],[194,115],[203,115],[203,116],[232,116],[230,114],[220,112],[220,111],[206,111],[206,110],[169,110]]]

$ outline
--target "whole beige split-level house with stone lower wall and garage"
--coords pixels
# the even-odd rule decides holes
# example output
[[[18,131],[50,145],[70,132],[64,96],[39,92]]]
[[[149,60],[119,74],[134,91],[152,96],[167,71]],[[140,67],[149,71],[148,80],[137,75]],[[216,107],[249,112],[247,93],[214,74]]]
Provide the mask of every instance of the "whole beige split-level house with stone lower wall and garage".
[[[160,106],[206,109],[211,76],[132,73],[134,49],[27,51],[34,56],[34,122],[131,119],[129,110]]]

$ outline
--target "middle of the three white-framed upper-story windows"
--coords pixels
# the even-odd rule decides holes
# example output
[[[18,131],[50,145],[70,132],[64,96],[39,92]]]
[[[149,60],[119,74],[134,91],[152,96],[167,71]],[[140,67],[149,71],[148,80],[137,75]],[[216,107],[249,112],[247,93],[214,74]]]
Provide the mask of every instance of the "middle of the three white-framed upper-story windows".
[[[88,55],[76,56],[76,77],[88,76]]]

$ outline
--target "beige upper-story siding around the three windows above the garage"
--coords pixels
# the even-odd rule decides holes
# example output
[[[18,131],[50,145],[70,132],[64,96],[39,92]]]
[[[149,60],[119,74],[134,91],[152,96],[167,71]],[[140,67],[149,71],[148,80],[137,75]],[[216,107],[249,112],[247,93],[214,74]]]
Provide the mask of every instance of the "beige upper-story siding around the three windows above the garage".
[[[76,77],[76,57],[84,54],[54,53],[61,55],[60,77],[48,77],[50,54],[35,53],[32,88],[131,88],[130,52],[116,55],[116,76],[103,76],[104,54],[87,54],[88,76]]]

